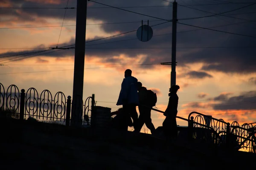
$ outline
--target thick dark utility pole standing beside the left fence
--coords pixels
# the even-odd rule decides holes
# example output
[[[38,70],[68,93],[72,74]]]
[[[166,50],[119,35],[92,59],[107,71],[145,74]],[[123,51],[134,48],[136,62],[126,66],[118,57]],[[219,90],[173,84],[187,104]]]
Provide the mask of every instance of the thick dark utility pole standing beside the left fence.
[[[81,126],[83,113],[84,55],[87,0],[77,0],[76,8],[76,48],[73,79],[73,100],[71,126]]]

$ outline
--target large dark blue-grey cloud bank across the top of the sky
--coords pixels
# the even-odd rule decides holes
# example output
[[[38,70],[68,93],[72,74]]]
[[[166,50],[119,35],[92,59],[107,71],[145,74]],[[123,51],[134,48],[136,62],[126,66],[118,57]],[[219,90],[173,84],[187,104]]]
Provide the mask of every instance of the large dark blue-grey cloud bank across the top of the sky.
[[[12,6],[21,7],[65,7],[66,1],[61,1],[61,4],[49,4],[42,3],[43,1],[31,2],[23,0],[9,0]],[[41,3],[39,3],[41,2]],[[211,6],[191,6],[193,8],[198,8],[200,10],[209,11],[212,13],[221,13],[224,11],[233,10],[248,4],[241,4],[244,2],[250,2],[247,0],[236,0],[234,2],[240,2],[240,4],[225,4],[225,5],[211,5]],[[111,6],[160,6],[166,4],[166,2],[161,2],[158,0],[131,0],[131,1],[120,1],[120,0],[108,0],[106,3]],[[180,2],[178,2],[180,3]],[[203,0],[199,0],[196,3],[194,1],[187,2],[188,4],[204,4],[209,3]],[[212,2],[220,3],[220,2]],[[182,4],[182,3],[180,3]],[[70,0],[69,7],[76,7],[76,0]],[[150,20],[150,25],[161,23],[163,21],[155,21],[151,17],[145,17],[138,14],[129,13],[127,11],[121,11],[114,8],[92,8],[92,7],[105,7],[99,4],[88,2],[87,18],[91,20],[101,20],[104,23],[116,23],[116,22],[131,22],[138,21],[138,23],[126,23],[126,24],[107,24],[102,25],[101,28],[105,32],[125,32],[136,30],[140,25],[140,20]],[[131,11],[148,14],[151,16],[171,19],[172,17],[172,7],[158,7],[158,8],[125,8]],[[219,31],[228,31],[236,34],[247,34],[256,37],[255,32],[255,22],[250,22],[248,20],[256,20],[255,14],[243,14],[248,12],[255,12],[255,6],[250,6],[247,8],[242,8],[237,11],[229,12],[224,15],[230,17],[236,17],[240,19],[215,16],[206,17],[202,19],[195,20],[183,20],[188,17],[201,17],[207,16],[201,11],[194,9],[185,8],[183,6],[178,6],[178,18],[180,23],[186,23],[201,27],[216,27],[213,29]],[[234,15],[237,14],[237,15]],[[49,17],[54,19],[62,19],[64,15],[64,10],[62,9],[4,9],[0,11],[1,20],[7,20],[8,16],[16,17],[15,21],[35,21],[42,22],[43,18]],[[4,19],[2,19],[4,18]],[[67,10],[65,20],[75,20],[76,10]],[[247,20],[247,21],[245,21]],[[243,23],[242,23],[243,22]],[[244,23],[247,22],[247,23]],[[236,24],[239,23],[239,24]],[[223,26],[230,24],[230,26]],[[233,24],[233,25],[232,25]],[[149,42],[140,42],[137,40],[136,32],[125,34],[122,37],[113,37],[110,39],[100,40],[97,42],[88,42],[86,49],[86,57],[99,56],[102,62],[110,63],[125,63],[124,59],[119,59],[114,56],[119,56],[120,54],[125,54],[131,58],[137,58],[140,54],[147,55],[147,58],[143,63],[159,63],[159,62],[170,62],[171,60],[171,49],[172,46],[171,33],[172,24],[166,23],[160,26],[152,27],[154,31],[154,37]],[[199,30],[198,30],[199,29]],[[198,30],[198,31],[191,31]],[[184,32],[189,31],[189,32]],[[163,35],[167,34],[167,35]],[[162,36],[158,36],[162,35]],[[95,37],[98,39],[99,37]],[[70,42],[61,44],[62,46],[74,44],[74,40],[71,39]],[[97,45],[98,44],[98,45]],[[191,63],[203,63],[203,71],[222,71],[230,73],[255,73],[256,72],[256,57],[255,48],[247,48],[256,44],[256,38],[253,37],[243,37],[241,35],[227,34],[222,32],[203,30],[200,28],[194,28],[190,26],[184,26],[181,24],[177,25],[177,67],[183,67]],[[58,45],[61,47],[61,45]],[[47,46],[47,45],[45,45]],[[97,49],[89,49],[97,48]],[[211,48],[205,48],[211,47]],[[221,48],[212,48],[221,47]],[[223,47],[237,47],[237,48],[223,48]],[[244,47],[244,48],[241,48]],[[106,49],[111,48],[111,49]],[[122,48],[122,49],[120,49]],[[123,49],[127,48],[127,49]],[[151,49],[141,49],[141,48],[151,48]],[[159,48],[159,49],[155,49]],[[160,49],[161,48],[161,49]],[[30,51],[23,51],[30,52]],[[5,54],[0,54],[0,56],[19,54],[18,52],[8,52]],[[46,56],[52,57],[65,57],[74,54],[74,50],[64,50],[58,51],[56,53],[46,54]],[[145,67],[148,68],[149,66]],[[192,77],[204,78],[212,77],[210,74],[205,72],[190,72]]]

